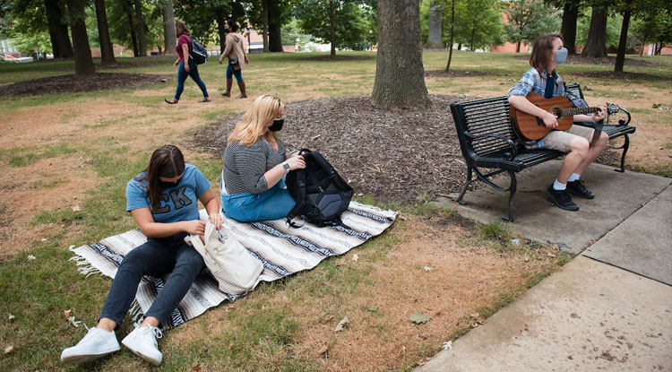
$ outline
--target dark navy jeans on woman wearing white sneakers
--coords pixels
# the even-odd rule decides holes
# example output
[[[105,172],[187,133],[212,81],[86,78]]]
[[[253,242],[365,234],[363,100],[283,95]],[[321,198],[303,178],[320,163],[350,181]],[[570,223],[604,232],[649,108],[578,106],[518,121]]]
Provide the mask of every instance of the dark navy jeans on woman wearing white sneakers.
[[[186,235],[181,232],[168,238],[149,238],[147,243],[131,250],[116,271],[99,320],[104,317],[113,320],[118,329],[131,307],[142,275],[170,273],[170,278],[144,314],[164,324],[205,267],[202,256],[185,243]]]

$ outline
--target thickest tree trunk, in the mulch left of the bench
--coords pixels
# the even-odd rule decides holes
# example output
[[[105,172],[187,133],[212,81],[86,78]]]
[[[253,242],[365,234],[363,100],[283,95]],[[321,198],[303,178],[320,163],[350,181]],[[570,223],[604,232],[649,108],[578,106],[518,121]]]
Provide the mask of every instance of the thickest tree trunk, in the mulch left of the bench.
[[[429,104],[417,0],[378,1],[378,58],[371,101],[379,107]]]

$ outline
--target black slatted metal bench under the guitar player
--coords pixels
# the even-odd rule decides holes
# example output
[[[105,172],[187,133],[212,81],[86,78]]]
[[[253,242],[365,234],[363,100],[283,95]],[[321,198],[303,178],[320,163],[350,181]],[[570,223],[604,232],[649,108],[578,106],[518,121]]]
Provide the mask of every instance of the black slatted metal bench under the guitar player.
[[[583,98],[581,85],[571,84],[566,88]],[[607,122],[602,131],[609,135],[609,141],[625,137],[625,143],[620,147],[609,144],[613,149],[623,150],[621,168],[615,170],[624,172],[625,154],[630,147],[628,134],[634,133],[635,128],[629,125],[632,118],[630,113],[625,108],[620,109],[627,116],[627,120],[620,119],[617,125],[609,125]],[[509,192],[508,215],[502,216],[502,219],[513,222],[512,202],[516,192],[516,172],[561,157],[564,152],[548,149],[528,150],[522,146],[518,134],[513,130],[506,96],[453,103],[451,111],[462,155],[464,160],[467,160],[467,180],[461,187],[460,195],[453,200],[464,204],[462,197],[471,183],[485,182],[496,190]],[[507,172],[511,178],[508,187],[498,186],[491,179],[503,172]]]

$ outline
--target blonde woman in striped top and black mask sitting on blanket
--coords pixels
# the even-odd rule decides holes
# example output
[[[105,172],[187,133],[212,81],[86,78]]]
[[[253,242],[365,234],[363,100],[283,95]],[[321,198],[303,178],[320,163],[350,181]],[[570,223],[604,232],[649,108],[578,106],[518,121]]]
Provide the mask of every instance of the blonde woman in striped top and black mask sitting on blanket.
[[[278,138],[284,115],[279,98],[260,96],[228,136],[220,187],[227,217],[241,222],[276,220],[294,207],[285,176],[289,170],[306,168],[306,162],[297,151],[288,156]]]

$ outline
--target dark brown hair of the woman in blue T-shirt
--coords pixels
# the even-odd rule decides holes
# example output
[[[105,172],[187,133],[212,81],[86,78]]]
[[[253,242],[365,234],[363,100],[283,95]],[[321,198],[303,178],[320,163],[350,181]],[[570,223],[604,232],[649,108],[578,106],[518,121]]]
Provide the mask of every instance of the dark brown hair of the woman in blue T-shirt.
[[[159,177],[172,178],[183,173],[185,173],[185,158],[182,156],[182,151],[177,146],[167,144],[151,154],[150,165],[135,177],[135,180],[146,184],[145,195],[150,199],[151,208],[159,208],[162,194]]]

